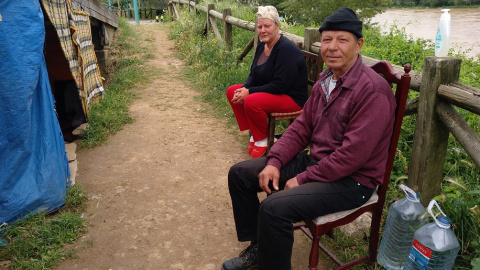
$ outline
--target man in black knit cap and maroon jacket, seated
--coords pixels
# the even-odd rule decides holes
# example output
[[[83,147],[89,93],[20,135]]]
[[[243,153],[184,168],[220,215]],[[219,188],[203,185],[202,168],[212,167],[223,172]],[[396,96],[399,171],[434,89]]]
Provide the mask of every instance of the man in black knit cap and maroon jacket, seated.
[[[353,10],[335,11],[319,31],[328,68],[303,113],[266,158],[230,168],[237,237],[251,243],[223,270],[291,269],[294,223],[359,207],[382,182],[396,107],[392,89],[362,63],[362,22]],[[262,191],[270,196],[260,203]]]

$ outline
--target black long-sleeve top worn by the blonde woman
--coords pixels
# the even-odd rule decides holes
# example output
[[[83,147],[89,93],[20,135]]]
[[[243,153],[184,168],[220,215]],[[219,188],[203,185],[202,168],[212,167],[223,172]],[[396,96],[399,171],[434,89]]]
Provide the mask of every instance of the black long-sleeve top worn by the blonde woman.
[[[264,47],[265,43],[258,44],[250,74],[243,87],[247,88],[250,94],[286,94],[303,107],[308,98],[308,77],[302,51],[282,35],[273,46],[267,61],[257,66]]]

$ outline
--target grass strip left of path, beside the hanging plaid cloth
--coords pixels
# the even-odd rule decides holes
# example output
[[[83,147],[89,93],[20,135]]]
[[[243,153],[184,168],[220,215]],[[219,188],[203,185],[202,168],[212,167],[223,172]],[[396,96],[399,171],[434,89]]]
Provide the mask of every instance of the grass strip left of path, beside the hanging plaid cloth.
[[[143,42],[126,20],[119,21],[116,39],[112,42],[109,62],[113,62],[107,80],[105,95],[98,104],[93,104],[88,114],[88,127],[81,133],[82,147],[94,147],[105,142],[109,135],[121,130],[133,119],[128,108],[135,98],[130,91],[135,85],[147,83],[153,71],[143,64],[152,59],[153,44],[147,37]]]

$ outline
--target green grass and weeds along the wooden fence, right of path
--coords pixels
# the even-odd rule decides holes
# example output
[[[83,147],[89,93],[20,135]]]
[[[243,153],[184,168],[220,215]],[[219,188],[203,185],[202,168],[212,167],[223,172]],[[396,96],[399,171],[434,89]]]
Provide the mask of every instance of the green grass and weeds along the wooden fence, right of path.
[[[216,10],[225,6],[232,8],[234,17],[253,21],[253,8],[235,6],[235,3],[229,1],[216,2]],[[189,65],[188,78],[193,78],[192,85],[202,93],[202,99],[214,106],[217,117],[227,118],[230,128],[235,130],[236,122],[224,93],[229,85],[244,82],[249,73],[253,52],[250,52],[242,61],[236,60],[236,57],[253,33],[233,27],[234,47],[231,51],[225,51],[222,46],[218,46],[218,41],[214,35],[203,35],[205,14],[200,13],[200,15],[194,17],[186,10],[181,14],[182,18],[171,24],[170,38],[175,41],[181,56]],[[222,32],[222,25],[218,24],[218,27],[219,31]],[[287,23],[287,25],[282,25],[281,29],[303,36],[302,26],[291,26]],[[422,71],[424,58],[434,55],[431,42],[414,39],[405,33],[404,28],[398,28],[397,26],[392,26],[386,35],[382,35],[378,27],[367,26],[364,29],[364,36],[366,44],[362,49],[362,54],[377,59],[385,59],[397,65],[410,63],[413,69],[419,72]],[[477,59],[468,57],[465,52],[458,48],[455,49],[454,55],[463,60],[460,82],[480,88],[478,57]],[[410,95],[413,98],[418,93],[412,91]],[[470,127],[477,134],[480,134],[480,116],[465,110],[458,110]],[[398,189],[398,185],[406,184],[407,181],[415,124],[416,116],[408,116],[404,119],[398,145],[398,155],[392,171],[390,189],[384,208],[385,217],[390,204],[405,196]],[[461,251],[455,264],[456,269],[469,269],[474,264],[480,265],[480,243],[477,240],[480,239],[479,176],[478,167],[474,165],[471,158],[466,155],[453,136],[450,136],[444,166],[445,181],[442,183],[442,192],[436,199],[441,202],[443,211],[452,220],[452,229],[461,242]],[[447,181],[449,179],[450,181]],[[354,240],[354,242],[349,241],[340,234],[336,240],[330,243],[334,249],[344,254],[342,260],[363,254],[361,247],[367,245],[364,239]]]

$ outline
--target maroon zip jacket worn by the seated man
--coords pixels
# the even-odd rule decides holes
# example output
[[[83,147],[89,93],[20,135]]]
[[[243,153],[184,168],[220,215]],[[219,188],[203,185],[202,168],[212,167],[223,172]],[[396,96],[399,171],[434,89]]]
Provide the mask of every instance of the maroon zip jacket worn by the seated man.
[[[383,181],[393,132],[392,88],[359,56],[327,102],[324,89],[331,72],[320,74],[303,113],[274,144],[267,164],[280,169],[310,144],[310,155],[318,162],[297,175],[300,185],[351,176],[374,188]]]

